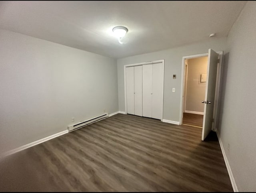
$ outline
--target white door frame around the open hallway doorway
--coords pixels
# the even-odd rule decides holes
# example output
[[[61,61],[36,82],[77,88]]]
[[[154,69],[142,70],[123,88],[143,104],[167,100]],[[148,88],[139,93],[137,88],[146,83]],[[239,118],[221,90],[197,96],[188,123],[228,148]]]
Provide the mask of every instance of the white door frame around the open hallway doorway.
[[[220,62],[218,63],[218,68],[217,68],[217,77],[216,77],[216,88],[215,88],[215,99],[214,99],[214,110],[213,110],[213,126],[212,130],[216,131],[216,126],[217,126],[217,118],[218,118],[218,104],[219,104],[219,98],[220,98],[220,78],[221,78],[221,71],[222,71],[222,63],[223,63],[223,51],[216,51],[216,53],[219,54],[219,59]],[[196,55],[188,55],[182,57],[182,70],[181,70],[181,92],[180,92],[180,125],[182,125],[182,114],[183,114],[183,95],[184,95],[184,75],[185,75],[185,59],[192,59],[192,58],[197,58],[197,57],[204,57],[208,56],[207,53],[202,53],[202,54],[196,54]],[[205,114],[205,112],[204,112]]]

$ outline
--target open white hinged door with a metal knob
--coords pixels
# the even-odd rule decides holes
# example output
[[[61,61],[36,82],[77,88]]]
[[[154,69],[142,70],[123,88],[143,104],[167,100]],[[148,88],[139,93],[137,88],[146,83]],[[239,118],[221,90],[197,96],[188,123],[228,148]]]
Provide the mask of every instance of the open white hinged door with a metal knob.
[[[205,87],[205,99],[204,103],[204,120],[202,130],[202,141],[208,136],[212,130],[212,119],[214,110],[214,97],[216,90],[216,77],[218,69],[218,57],[219,54],[209,49],[208,51],[208,66],[207,66],[207,79]]]

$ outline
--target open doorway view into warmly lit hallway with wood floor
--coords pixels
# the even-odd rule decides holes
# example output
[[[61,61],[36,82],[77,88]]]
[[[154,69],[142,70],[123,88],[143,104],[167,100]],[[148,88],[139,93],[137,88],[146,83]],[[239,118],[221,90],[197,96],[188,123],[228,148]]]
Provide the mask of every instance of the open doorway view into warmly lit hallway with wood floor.
[[[208,56],[185,59],[182,124],[202,128]]]

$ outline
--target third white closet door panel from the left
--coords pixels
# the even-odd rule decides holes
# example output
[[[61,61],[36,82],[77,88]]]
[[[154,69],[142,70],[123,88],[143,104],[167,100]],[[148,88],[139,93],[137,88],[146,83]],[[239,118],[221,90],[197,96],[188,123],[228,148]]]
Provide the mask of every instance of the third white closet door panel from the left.
[[[152,64],[142,66],[142,116],[152,117]]]

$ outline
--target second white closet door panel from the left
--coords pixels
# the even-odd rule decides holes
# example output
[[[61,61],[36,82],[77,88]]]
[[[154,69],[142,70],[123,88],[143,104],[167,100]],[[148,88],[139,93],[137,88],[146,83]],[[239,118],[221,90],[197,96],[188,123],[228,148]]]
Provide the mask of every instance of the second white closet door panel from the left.
[[[134,114],[142,116],[142,65],[134,66]]]

